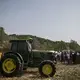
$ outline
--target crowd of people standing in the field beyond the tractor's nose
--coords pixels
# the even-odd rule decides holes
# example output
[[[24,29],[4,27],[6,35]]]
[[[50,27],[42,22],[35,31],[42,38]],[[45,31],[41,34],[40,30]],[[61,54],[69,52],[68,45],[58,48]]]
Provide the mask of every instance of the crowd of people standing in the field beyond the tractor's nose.
[[[56,56],[57,55],[57,56]],[[62,51],[55,55],[55,60],[64,64],[80,63],[80,52],[77,51]]]

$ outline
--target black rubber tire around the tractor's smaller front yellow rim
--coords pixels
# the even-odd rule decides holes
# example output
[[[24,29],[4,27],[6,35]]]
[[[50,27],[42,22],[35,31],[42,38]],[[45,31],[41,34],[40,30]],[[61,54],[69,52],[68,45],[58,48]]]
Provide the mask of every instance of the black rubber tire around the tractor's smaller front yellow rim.
[[[43,72],[43,66],[45,66],[45,65],[49,65],[49,66],[51,67],[51,72],[50,72],[49,74],[45,74],[45,73]],[[46,69],[45,69],[45,70],[46,70]],[[45,71],[45,70],[44,70],[44,71]],[[46,70],[46,71],[47,71],[47,70]],[[53,77],[54,74],[56,73],[55,65],[53,64],[52,61],[50,61],[50,60],[45,60],[45,61],[41,62],[40,66],[39,66],[39,73],[40,73],[40,75],[43,76],[43,77]]]

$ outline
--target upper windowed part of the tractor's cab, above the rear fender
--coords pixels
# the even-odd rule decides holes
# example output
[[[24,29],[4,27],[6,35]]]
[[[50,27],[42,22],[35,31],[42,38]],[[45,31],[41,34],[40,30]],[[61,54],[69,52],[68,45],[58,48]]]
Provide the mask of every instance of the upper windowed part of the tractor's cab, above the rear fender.
[[[27,40],[11,40],[11,51],[15,52],[31,52],[31,44]]]

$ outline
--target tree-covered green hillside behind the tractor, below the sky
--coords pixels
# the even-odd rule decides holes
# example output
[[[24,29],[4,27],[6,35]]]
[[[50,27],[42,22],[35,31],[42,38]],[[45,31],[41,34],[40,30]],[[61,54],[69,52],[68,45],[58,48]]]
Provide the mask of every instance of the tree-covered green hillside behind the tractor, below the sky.
[[[33,36],[33,35],[16,35],[16,34],[7,35],[4,31],[4,28],[0,27],[0,41],[3,42],[2,45],[4,47],[8,46],[8,42],[6,41],[9,41],[12,39],[27,40],[28,38],[33,39],[32,46],[34,49],[57,50],[57,51],[70,49],[70,50],[80,51],[80,45],[74,40],[71,40],[70,42],[64,42],[64,41],[52,41],[49,39],[44,39],[44,38],[40,38],[40,37]]]

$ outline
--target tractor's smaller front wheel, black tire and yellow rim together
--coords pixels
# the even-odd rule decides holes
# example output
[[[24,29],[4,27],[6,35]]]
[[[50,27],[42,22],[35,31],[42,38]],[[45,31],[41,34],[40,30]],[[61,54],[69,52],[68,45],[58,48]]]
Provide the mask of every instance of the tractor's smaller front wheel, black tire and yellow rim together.
[[[50,60],[43,61],[39,66],[39,73],[43,77],[53,77],[55,72],[55,65]]]

